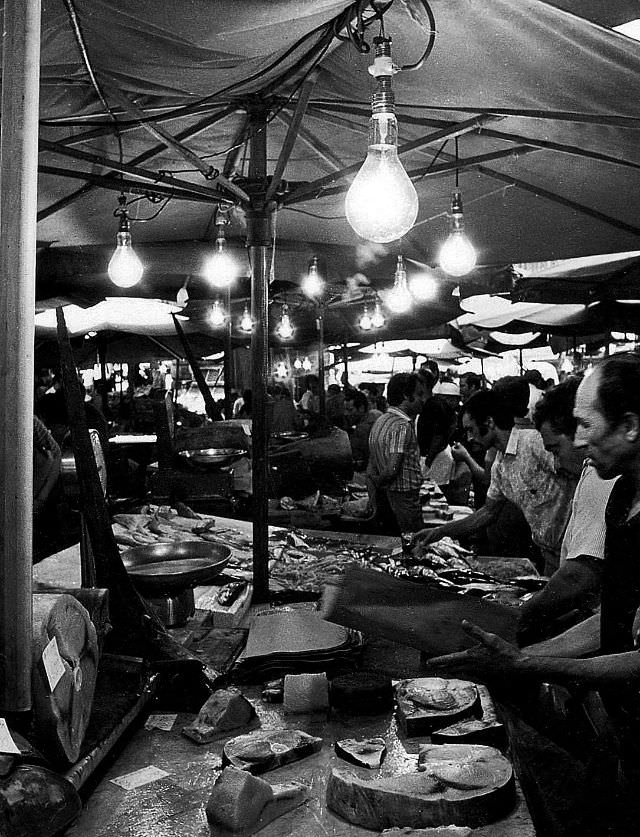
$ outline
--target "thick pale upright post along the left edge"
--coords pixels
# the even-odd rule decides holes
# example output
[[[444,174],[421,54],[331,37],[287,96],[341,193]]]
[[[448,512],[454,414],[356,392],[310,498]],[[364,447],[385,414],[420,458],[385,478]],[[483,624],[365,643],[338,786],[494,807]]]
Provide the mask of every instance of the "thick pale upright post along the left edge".
[[[40,0],[6,0],[0,132],[0,714],[31,708]]]

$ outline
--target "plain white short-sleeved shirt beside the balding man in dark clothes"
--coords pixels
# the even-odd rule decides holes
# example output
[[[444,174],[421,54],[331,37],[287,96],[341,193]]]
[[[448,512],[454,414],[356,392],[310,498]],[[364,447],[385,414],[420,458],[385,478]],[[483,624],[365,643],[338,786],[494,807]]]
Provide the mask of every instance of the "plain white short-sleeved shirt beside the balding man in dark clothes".
[[[571,502],[571,517],[562,539],[560,563],[589,555],[604,558],[605,510],[616,479],[603,480],[593,467],[585,463]]]

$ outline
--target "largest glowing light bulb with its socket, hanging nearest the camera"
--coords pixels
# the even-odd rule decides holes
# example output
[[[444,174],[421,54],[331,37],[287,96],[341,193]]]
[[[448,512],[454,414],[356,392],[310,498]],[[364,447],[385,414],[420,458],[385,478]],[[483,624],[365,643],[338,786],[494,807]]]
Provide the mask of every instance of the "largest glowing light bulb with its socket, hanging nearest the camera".
[[[391,38],[374,39],[369,72],[376,78],[369,120],[369,148],[345,200],[347,221],[369,241],[384,244],[409,232],[418,215],[418,195],[398,157],[398,122],[391,77]]]

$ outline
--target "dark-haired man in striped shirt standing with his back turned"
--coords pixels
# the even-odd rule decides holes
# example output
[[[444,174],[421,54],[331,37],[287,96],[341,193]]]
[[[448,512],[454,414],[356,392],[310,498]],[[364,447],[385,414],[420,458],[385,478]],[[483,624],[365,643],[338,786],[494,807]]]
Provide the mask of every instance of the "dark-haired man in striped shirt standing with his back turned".
[[[418,375],[392,375],[387,384],[387,412],[377,419],[369,435],[367,475],[375,486],[378,506],[388,503],[400,532],[415,532],[423,526],[415,419],[424,399],[424,384]]]

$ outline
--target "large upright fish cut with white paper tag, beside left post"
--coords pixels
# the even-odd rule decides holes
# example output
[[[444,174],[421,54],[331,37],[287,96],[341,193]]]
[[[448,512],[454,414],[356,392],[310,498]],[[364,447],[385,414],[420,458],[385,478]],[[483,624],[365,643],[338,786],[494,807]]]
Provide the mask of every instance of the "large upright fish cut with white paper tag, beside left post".
[[[45,754],[54,761],[73,764],[80,755],[97,670],[98,640],[87,610],[64,593],[34,594],[34,732]],[[53,688],[50,677],[57,681]]]

